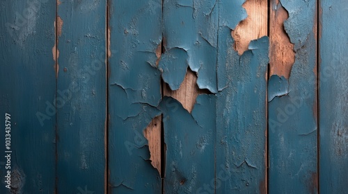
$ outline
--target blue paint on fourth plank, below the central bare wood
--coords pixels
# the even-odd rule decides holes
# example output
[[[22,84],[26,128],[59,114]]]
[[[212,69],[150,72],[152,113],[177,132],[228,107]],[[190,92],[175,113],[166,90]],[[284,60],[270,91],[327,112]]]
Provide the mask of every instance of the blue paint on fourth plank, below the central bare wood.
[[[216,96],[198,96],[192,115],[171,97],[164,97],[163,113],[166,143],[166,193],[214,191]]]

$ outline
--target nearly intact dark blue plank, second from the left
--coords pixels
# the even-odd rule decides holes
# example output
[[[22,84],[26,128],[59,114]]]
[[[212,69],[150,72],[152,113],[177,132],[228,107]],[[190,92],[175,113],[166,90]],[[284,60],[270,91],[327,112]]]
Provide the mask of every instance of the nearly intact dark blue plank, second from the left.
[[[106,1],[58,1],[57,192],[106,192]]]

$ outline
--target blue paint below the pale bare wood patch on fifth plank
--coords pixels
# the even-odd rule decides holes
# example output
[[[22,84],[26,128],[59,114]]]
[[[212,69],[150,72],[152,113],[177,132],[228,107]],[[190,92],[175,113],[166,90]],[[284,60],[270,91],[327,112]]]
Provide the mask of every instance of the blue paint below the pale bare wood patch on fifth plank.
[[[216,94],[216,193],[265,193],[269,41],[252,41],[239,56],[230,29],[219,39],[218,72],[228,85]]]

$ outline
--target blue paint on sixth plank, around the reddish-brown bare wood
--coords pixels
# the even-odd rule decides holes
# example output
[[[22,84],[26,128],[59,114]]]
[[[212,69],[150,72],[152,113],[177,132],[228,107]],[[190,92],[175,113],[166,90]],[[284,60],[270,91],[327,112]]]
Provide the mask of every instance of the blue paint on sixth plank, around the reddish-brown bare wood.
[[[269,103],[269,193],[317,193],[316,1],[281,3],[296,54],[288,94]]]

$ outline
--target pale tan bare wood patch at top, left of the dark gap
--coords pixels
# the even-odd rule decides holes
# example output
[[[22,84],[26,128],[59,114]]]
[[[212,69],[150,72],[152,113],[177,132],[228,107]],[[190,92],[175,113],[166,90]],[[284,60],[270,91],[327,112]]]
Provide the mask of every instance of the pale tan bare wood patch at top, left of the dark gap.
[[[239,55],[248,50],[251,40],[267,35],[267,0],[247,0],[243,7],[248,17],[232,30],[235,50]]]

